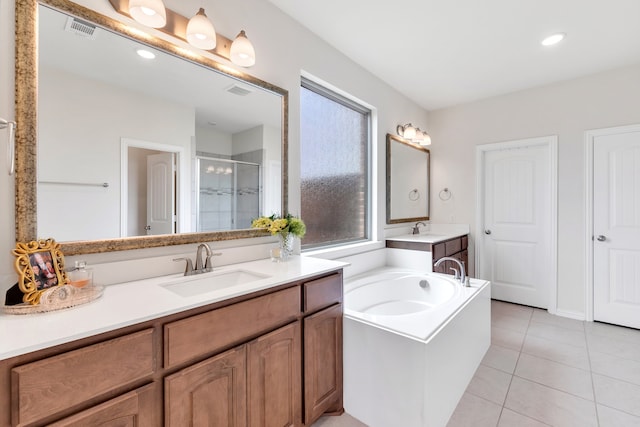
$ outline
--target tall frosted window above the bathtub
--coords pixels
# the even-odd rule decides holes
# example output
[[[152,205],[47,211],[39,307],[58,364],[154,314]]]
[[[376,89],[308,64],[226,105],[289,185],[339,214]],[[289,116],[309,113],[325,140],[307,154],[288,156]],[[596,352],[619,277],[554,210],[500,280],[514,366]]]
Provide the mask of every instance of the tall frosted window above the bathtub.
[[[309,80],[300,88],[304,249],[370,237],[371,111]]]

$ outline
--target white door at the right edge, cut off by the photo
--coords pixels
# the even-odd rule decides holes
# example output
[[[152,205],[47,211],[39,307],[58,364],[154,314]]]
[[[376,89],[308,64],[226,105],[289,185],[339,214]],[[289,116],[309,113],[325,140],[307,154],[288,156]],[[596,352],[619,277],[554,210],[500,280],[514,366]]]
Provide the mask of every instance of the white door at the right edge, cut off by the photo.
[[[593,315],[640,328],[640,127],[593,137]]]

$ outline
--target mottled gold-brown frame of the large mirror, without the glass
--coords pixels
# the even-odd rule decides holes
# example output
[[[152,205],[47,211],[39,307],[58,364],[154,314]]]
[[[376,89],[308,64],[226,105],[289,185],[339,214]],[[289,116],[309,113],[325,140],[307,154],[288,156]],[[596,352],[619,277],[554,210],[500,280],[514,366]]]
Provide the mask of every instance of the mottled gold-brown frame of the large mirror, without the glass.
[[[15,21],[15,132],[16,242],[38,240],[37,230],[37,154],[38,154],[38,6],[47,5],[61,12],[93,22],[108,30],[163,50],[170,55],[212,69],[230,77],[276,93],[282,97],[282,213],[287,212],[288,194],[288,91],[198,54],[188,52],[166,40],[143,34],[127,24],[66,0],[16,0]],[[60,242],[66,255],[100,253],[159,246],[183,245],[217,240],[267,236],[264,230],[246,229],[138,236],[103,240]]]

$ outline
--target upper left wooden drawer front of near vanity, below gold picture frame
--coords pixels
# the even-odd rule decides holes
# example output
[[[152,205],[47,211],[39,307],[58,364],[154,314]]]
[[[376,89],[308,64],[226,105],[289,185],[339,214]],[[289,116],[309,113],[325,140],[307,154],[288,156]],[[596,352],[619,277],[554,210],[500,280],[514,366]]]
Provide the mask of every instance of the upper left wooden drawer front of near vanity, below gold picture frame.
[[[11,370],[12,419],[25,425],[153,374],[153,329]]]

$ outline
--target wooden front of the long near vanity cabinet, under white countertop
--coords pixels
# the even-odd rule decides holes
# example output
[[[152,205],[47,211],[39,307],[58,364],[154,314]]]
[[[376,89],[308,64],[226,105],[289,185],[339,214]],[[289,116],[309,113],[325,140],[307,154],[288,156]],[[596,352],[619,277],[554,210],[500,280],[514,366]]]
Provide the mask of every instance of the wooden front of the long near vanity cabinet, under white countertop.
[[[342,270],[0,361],[0,427],[300,427],[342,411]]]

